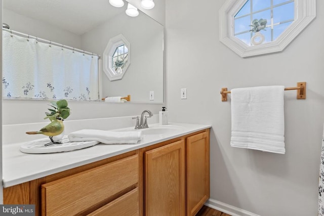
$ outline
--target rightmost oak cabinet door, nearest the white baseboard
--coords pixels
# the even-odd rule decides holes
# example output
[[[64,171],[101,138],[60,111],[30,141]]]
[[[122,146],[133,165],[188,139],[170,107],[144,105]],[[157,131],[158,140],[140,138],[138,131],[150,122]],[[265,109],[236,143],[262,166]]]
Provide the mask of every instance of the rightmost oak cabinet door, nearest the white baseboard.
[[[209,131],[187,138],[187,215],[195,215],[210,196]]]

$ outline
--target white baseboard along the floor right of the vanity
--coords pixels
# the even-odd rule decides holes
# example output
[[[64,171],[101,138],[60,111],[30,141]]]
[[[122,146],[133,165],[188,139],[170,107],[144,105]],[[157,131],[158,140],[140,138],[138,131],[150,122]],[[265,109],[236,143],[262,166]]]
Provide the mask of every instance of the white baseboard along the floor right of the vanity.
[[[224,213],[230,214],[232,216],[260,216],[258,214],[246,211],[241,208],[226,204],[224,202],[217,201],[215,199],[209,199],[205,203],[206,206],[214,208],[216,210],[222,211]]]

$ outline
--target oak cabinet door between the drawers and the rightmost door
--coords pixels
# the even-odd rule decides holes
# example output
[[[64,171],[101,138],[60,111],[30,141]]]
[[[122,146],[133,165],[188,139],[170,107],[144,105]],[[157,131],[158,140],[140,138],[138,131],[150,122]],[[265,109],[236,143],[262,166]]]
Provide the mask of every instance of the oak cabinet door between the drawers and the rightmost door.
[[[145,152],[145,215],[185,215],[184,140]]]

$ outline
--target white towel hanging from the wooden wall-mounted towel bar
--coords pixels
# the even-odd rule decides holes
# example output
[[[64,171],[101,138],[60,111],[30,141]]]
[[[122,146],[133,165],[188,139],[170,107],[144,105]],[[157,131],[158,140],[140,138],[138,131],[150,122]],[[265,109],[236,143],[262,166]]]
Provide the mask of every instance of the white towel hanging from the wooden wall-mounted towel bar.
[[[231,90],[231,146],[285,154],[284,86]]]

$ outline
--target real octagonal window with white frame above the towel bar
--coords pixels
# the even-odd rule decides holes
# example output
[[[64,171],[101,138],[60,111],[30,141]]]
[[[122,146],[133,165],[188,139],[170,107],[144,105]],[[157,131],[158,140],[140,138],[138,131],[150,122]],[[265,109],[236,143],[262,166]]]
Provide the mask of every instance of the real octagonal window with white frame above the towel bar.
[[[281,52],[316,16],[316,0],[227,0],[220,41],[241,57]]]

